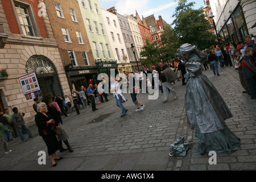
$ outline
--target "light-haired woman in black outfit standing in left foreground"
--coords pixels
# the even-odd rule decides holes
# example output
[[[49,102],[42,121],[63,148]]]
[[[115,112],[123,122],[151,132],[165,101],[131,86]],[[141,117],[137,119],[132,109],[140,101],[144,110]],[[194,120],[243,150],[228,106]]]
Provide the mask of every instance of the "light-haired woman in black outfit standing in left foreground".
[[[57,126],[51,115],[48,114],[47,106],[44,102],[40,102],[37,106],[38,113],[35,115],[35,123],[38,126],[39,135],[43,138],[48,149],[48,155],[51,158],[52,166],[55,167],[57,163],[55,160],[63,159],[56,156],[56,151],[60,146],[57,141],[54,129]]]

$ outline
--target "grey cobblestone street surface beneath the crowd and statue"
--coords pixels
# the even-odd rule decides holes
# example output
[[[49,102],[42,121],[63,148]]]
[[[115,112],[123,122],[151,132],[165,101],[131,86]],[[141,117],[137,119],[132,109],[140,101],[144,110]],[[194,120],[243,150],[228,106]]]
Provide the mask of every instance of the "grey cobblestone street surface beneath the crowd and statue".
[[[64,159],[51,166],[46,144],[39,137],[35,125],[30,125],[36,137],[22,142],[20,138],[9,142],[12,152],[0,153],[0,170],[70,170],[70,171],[131,171],[131,170],[255,170],[256,169],[256,100],[242,93],[238,72],[233,67],[219,69],[220,76],[214,76],[211,70],[204,71],[224,98],[233,118],[226,124],[239,138],[241,146],[233,154],[217,154],[217,164],[210,165],[208,154],[196,152],[198,143],[192,130],[187,127],[184,107],[185,86],[181,81],[174,85],[178,99],[161,102],[163,94],[157,100],[148,100],[148,94],[138,94],[137,98],[145,105],[144,110],[136,109],[129,94],[125,105],[129,111],[120,117],[121,110],[115,106],[114,98],[109,102],[97,104],[99,110],[92,112],[91,107],[80,109],[81,114],[73,111],[63,118],[63,127],[69,135],[69,143],[74,152],[60,153]],[[32,106],[31,106],[32,107]],[[177,137],[195,143],[185,157],[169,156],[169,147]],[[65,147],[65,146],[64,146]],[[38,164],[38,152],[46,151],[46,165]]]

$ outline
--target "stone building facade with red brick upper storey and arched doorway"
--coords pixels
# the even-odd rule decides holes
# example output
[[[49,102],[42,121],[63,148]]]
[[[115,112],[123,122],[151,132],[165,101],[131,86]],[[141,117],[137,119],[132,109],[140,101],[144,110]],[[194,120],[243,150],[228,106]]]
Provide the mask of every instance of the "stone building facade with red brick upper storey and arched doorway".
[[[26,123],[34,121],[34,96],[70,92],[58,44],[44,1],[0,1],[0,69],[9,76],[0,79],[1,111],[18,107]],[[19,77],[35,72],[40,94],[25,96]]]

